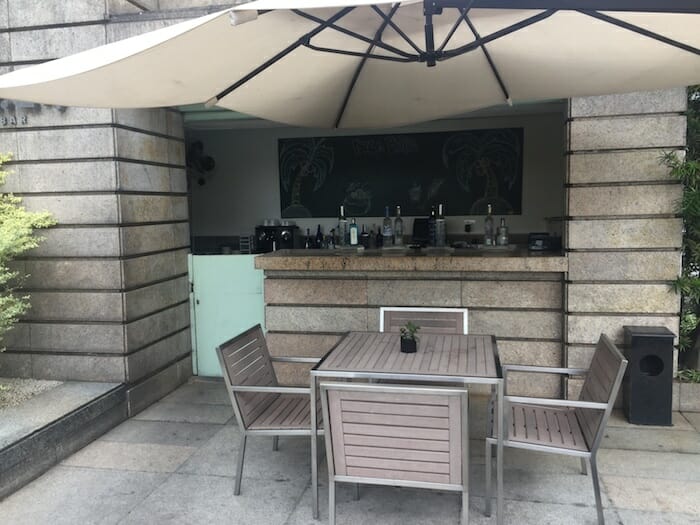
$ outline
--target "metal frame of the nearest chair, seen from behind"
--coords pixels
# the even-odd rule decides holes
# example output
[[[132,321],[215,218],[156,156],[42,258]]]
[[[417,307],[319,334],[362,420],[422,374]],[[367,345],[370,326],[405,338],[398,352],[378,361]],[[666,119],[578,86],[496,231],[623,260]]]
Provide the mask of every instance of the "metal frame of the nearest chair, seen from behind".
[[[326,459],[328,462],[328,521],[329,525],[335,525],[335,485],[336,483],[355,483],[369,485],[404,486],[412,488],[426,488],[442,491],[455,491],[462,493],[461,523],[467,525],[469,522],[469,419],[468,406],[469,397],[465,388],[436,388],[418,385],[392,385],[381,386],[366,383],[326,383],[320,384],[321,404],[323,408],[323,420],[326,422],[325,443]],[[328,393],[332,391],[341,392],[363,392],[377,394],[377,401],[381,401],[382,395],[391,396],[450,396],[459,397],[460,432],[455,439],[459,440],[461,447],[461,484],[437,483],[420,480],[401,480],[382,477],[363,477],[336,474],[336,457],[333,451],[333,426],[334,414],[330,413]],[[393,397],[392,402],[395,402]],[[338,415],[339,416],[339,415]],[[342,423],[341,423],[342,425]],[[343,460],[345,458],[343,457]],[[356,499],[359,493],[356,489]]]

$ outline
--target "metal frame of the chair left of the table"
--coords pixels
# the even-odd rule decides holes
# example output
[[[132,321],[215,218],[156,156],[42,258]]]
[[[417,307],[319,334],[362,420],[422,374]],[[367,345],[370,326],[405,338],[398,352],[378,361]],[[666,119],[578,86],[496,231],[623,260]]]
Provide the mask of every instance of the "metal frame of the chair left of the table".
[[[237,385],[234,384],[234,381],[232,380],[230,374],[229,374],[229,369],[226,365],[226,356],[224,355],[225,351],[227,348],[232,347],[235,345],[237,342],[241,340],[245,340],[247,337],[250,335],[254,334],[255,332],[258,332],[257,338],[259,338],[262,342],[261,344],[261,353],[263,359],[267,359],[269,362],[269,374],[271,375],[273,379],[273,385]],[[249,428],[251,424],[254,422],[248,421],[246,422],[245,418],[243,417],[243,410],[242,407],[239,403],[238,395],[242,393],[261,393],[261,394],[278,394],[279,396],[285,396],[285,395],[298,395],[298,394],[305,394],[309,396],[309,407],[313,407],[315,403],[310,402],[311,398],[311,388],[310,387],[296,387],[296,386],[283,386],[279,385],[277,383],[277,377],[274,372],[274,368],[272,367],[273,362],[281,362],[281,363],[309,363],[309,364],[316,364],[319,362],[320,358],[315,358],[315,357],[271,357],[268,350],[267,350],[267,343],[265,342],[265,336],[262,332],[262,327],[258,324],[255,325],[245,332],[240,333],[239,335],[232,337],[228,341],[221,343],[219,346],[216,347],[216,355],[219,358],[219,364],[221,365],[221,370],[223,372],[224,376],[224,381],[226,383],[226,390],[228,391],[229,397],[231,399],[231,404],[233,405],[233,411],[234,414],[236,415],[236,420],[238,421],[239,425],[241,426],[242,429],[242,435],[241,435],[241,442],[240,446],[238,449],[238,459],[237,459],[237,465],[236,465],[236,482],[235,482],[235,488],[234,488],[234,494],[238,496],[241,493],[241,478],[243,476],[243,462],[245,458],[245,448],[246,448],[246,441],[248,439],[248,436],[272,436],[272,449],[273,450],[278,450],[279,448],[279,437],[280,436],[311,436],[311,424],[309,424],[308,428],[287,428],[285,426],[270,426],[269,428],[265,429],[251,429]],[[310,417],[313,417],[313,414],[309,414]],[[322,435],[323,434],[323,429],[318,428],[316,431],[316,435]]]

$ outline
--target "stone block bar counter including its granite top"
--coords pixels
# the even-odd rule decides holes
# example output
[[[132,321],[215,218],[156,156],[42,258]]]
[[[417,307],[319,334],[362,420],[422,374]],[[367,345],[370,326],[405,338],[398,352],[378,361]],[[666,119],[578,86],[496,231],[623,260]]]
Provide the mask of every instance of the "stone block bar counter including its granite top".
[[[494,334],[503,363],[561,366],[566,257],[527,251],[447,255],[361,255],[282,250],[259,255],[273,355],[322,356],[342,335],[378,330],[381,306],[460,307],[469,333]],[[306,384],[305,368],[283,364],[280,380]],[[559,392],[558,378],[536,384],[513,375],[509,391]],[[531,379],[531,378],[530,378]]]

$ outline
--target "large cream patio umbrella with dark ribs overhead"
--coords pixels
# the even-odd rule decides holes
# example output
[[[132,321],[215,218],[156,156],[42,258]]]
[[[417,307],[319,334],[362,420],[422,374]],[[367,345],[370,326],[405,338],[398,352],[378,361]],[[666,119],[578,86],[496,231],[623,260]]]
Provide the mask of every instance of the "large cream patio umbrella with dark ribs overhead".
[[[0,97],[389,127],[695,83],[695,0],[258,0],[1,76]]]

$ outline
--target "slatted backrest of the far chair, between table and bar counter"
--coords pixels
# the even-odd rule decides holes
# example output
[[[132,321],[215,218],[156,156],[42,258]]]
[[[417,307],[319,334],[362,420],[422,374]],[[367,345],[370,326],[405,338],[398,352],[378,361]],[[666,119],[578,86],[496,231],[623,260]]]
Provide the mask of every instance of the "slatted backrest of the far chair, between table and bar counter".
[[[390,308],[380,310],[382,332],[398,332],[408,321],[434,334],[466,334],[467,310],[464,308]]]

